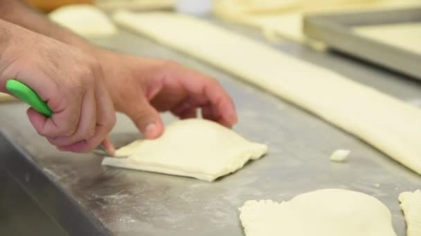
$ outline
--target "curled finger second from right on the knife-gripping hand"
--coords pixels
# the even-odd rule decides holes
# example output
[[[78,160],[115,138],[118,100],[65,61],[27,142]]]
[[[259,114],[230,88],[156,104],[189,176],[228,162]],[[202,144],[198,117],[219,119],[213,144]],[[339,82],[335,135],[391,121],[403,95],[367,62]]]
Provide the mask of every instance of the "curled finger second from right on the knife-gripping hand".
[[[87,91],[82,100],[80,121],[76,132],[71,136],[54,137],[52,142],[55,146],[67,146],[83,140],[90,139],[96,132],[96,99],[93,89]]]

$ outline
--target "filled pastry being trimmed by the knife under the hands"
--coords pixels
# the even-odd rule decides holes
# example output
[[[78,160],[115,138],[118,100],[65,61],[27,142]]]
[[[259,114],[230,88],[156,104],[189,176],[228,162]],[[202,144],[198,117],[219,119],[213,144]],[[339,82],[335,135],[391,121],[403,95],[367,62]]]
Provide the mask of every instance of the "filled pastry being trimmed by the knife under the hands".
[[[182,175],[213,181],[267,153],[267,146],[242,138],[229,128],[205,119],[175,121],[161,137],[135,141],[106,157],[103,165]]]

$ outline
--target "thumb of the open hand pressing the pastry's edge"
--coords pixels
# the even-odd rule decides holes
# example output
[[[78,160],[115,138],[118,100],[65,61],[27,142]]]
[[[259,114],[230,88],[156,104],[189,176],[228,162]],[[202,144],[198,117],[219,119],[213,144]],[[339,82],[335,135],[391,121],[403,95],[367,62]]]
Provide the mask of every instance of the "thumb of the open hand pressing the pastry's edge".
[[[139,101],[136,107],[132,107],[127,112],[127,115],[147,139],[156,139],[162,134],[163,122],[161,116],[146,99]]]

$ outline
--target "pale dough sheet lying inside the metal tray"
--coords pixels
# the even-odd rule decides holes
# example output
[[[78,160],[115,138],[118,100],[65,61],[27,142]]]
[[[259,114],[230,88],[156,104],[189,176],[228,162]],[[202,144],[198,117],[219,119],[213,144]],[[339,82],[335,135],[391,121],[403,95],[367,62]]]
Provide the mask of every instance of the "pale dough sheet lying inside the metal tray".
[[[356,27],[358,35],[421,55],[421,23]]]

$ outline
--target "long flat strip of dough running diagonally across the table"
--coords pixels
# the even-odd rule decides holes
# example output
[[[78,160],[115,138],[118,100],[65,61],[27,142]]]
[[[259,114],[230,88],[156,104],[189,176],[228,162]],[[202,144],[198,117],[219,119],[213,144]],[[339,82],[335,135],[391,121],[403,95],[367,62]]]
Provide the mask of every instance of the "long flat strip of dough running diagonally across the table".
[[[200,19],[130,12],[114,19],[291,101],[421,174],[419,108]]]

